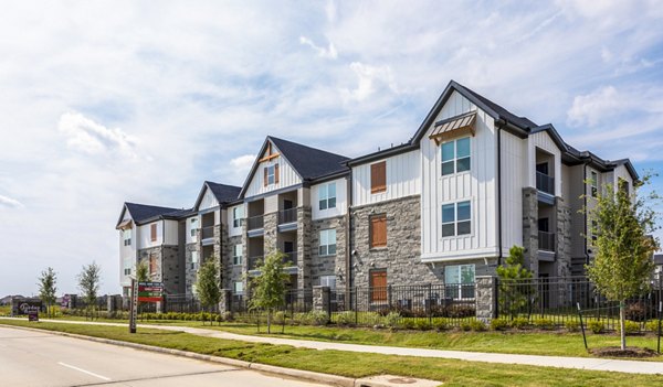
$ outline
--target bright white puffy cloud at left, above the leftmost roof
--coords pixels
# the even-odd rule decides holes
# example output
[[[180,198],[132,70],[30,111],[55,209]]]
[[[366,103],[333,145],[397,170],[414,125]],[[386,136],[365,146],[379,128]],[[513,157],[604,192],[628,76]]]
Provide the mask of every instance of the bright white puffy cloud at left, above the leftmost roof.
[[[135,140],[119,128],[108,129],[80,112],[65,112],[60,117],[57,129],[67,137],[67,146],[90,154],[117,151],[131,158]]]

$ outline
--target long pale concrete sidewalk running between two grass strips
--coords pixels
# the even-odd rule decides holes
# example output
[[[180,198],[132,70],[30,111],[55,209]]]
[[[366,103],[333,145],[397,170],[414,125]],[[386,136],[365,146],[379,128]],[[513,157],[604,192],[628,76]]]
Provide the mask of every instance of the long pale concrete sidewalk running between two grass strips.
[[[10,318],[0,318],[10,319]],[[24,320],[24,319],[20,319]],[[86,321],[62,321],[62,320],[41,320],[44,322],[66,323],[66,324],[94,324],[108,326],[127,326],[120,323],[104,323],[104,322],[86,322]],[[427,350],[427,348],[406,348],[393,346],[378,345],[361,345],[361,344],[345,344],[333,342],[315,342],[307,340],[280,338],[273,336],[250,336],[215,330],[207,330],[189,326],[167,326],[167,325],[150,325],[138,324],[138,327],[178,331],[186,332],[199,336],[207,336],[223,340],[238,340],[251,343],[282,344],[312,350],[335,350],[346,352],[373,353],[383,355],[400,355],[415,357],[436,357],[436,358],[453,358],[471,362],[486,362],[498,364],[522,364],[544,367],[558,368],[576,368],[590,370],[611,370],[630,374],[662,374],[663,362],[639,362],[639,361],[618,361],[594,357],[562,357],[562,356],[537,356],[537,355],[513,355],[498,353],[482,353],[482,352],[464,352],[464,351],[443,351],[443,350]]]

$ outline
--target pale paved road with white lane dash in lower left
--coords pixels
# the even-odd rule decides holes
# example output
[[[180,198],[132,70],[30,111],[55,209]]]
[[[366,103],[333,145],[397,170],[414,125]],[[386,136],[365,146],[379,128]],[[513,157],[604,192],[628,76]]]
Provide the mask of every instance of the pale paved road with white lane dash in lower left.
[[[1,386],[323,386],[186,357],[0,327]]]

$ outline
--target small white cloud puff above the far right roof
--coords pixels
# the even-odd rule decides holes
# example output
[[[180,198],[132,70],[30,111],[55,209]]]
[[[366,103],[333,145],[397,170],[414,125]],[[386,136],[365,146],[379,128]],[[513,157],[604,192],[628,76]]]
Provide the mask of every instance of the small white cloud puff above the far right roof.
[[[572,126],[587,125],[593,127],[614,116],[623,108],[623,97],[619,95],[614,87],[604,86],[592,93],[576,96],[573,106],[567,115]]]

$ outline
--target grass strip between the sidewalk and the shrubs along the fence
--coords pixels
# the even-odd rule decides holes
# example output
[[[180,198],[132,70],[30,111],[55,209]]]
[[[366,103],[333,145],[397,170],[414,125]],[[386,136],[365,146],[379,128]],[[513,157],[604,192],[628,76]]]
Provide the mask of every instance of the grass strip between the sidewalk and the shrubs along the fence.
[[[63,318],[63,320],[84,321],[84,318]],[[124,322],[122,320],[104,320],[102,322]],[[210,323],[203,325],[198,321],[143,321],[139,323],[152,325],[193,326],[220,330],[225,332],[255,335],[256,326],[245,323]],[[272,327],[273,336],[298,340],[343,342],[352,344],[387,345],[403,347],[421,347],[438,350],[495,352],[507,354],[547,355],[547,356],[579,356],[589,357],[582,343],[582,334],[567,333],[566,331],[533,332],[533,331],[506,331],[506,332],[459,332],[459,331],[390,331],[373,330],[366,327],[338,327],[338,326],[311,326],[311,325],[285,325],[284,334],[281,334],[281,325]],[[266,335],[266,327],[261,326],[260,335]],[[591,347],[617,346],[619,336],[617,334],[587,334],[588,344]],[[656,336],[627,337],[629,346],[656,348]],[[650,358],[650,361],[663,362],[663,356]]]

